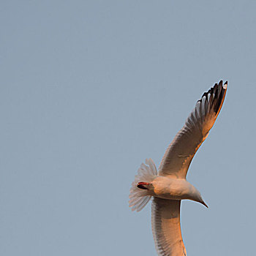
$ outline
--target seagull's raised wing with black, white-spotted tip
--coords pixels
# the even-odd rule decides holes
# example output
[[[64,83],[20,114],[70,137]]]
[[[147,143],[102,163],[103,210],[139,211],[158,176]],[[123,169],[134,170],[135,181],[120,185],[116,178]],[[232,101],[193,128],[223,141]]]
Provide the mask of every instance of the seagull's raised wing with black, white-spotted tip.
[[[226,91],[227,82],[222,85],[221,80],[197,101],[195,109],[187,118],[184,127],[165,151],[159,166],[159,175],[186,178],[192,158],[203,140],[206,139],[222,108]]]

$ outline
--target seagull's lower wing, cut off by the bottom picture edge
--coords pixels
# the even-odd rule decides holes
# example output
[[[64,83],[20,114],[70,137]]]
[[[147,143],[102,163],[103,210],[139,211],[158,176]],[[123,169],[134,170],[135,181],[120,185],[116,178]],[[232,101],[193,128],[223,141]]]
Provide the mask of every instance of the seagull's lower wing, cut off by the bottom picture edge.
[[[154,197],[151,222],[154,243],[159,256],[186,256],[180,225],[181,200]]]

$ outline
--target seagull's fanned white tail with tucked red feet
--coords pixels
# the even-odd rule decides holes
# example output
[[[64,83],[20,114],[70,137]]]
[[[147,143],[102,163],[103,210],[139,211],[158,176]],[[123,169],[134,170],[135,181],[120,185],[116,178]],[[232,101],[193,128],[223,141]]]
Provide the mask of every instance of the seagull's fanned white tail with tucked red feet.
[[[140,211],[148,203],[151,195],[148,195],[148,186],[151,181],[157,176],[157,167],[153,160],[146,159],[146,165],[142,163],[138,169],[138,175],[135,176],[135,181],[132,182],[132,187],[129,190],[129,207],[132,211]]]

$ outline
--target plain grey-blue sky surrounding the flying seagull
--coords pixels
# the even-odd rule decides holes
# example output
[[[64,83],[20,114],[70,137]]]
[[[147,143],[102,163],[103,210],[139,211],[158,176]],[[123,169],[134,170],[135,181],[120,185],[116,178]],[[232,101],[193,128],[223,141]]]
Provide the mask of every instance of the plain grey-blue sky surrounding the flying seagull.
[[[1,1],[0,255],[156,255],[128,207],[197,99],[228,80],[188,180],[188,255],[255,245],[256,1]]]

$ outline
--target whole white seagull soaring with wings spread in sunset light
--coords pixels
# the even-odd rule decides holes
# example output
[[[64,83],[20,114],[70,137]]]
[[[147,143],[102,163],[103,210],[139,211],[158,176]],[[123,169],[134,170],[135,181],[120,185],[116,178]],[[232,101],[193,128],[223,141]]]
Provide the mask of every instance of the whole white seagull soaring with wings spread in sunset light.
[[[159,256],[186,256],[181,236],[181,200],[188,199],[203,206],[200,192],[187,181],[187,171],[197,149],[206,140],[225,99],[227,82],[222,80],[203,94],[190,113],[184,127],[170,143],[157,172],[152,159],[140,165],[132,182],[129,207],[140,211],[151,197],[151,225]]]

